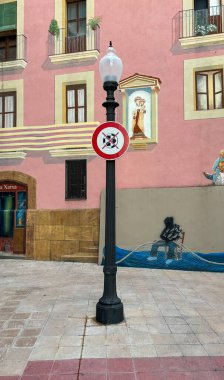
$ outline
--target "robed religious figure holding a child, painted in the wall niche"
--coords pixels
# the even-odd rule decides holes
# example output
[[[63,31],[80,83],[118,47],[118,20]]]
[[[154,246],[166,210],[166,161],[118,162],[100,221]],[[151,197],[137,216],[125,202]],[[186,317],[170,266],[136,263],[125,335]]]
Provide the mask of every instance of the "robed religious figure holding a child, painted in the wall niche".
[[[132,112],[132,136],[131,139],[135,138],[146,138],[145,136],[145,99],[140,96],[136,96],[134,99],[135,109]]]

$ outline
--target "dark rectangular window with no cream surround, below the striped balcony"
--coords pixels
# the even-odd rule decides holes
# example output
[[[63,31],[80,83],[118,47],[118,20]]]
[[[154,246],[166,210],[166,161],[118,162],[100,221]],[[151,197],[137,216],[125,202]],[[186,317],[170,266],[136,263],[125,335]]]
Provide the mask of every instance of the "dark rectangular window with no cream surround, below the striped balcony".
[[[86,160],[65,163],[66,199],[86,199]]]

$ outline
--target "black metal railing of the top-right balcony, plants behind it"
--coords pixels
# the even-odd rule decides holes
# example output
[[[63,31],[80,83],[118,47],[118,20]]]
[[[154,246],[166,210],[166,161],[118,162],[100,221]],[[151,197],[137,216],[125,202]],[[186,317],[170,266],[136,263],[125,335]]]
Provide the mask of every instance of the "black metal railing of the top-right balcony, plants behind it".
[[[224,6],[179,12],[179,38],[223,33],[223,15]]]

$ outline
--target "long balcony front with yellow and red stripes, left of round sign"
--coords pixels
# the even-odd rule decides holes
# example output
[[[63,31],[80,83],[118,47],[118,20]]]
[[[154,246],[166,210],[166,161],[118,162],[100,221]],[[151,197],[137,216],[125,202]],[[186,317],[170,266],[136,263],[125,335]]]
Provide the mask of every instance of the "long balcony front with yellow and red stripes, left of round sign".
[[[97,122],[0,129],[0,159],[24,159],[28,152],[51,157],[94,155]]]

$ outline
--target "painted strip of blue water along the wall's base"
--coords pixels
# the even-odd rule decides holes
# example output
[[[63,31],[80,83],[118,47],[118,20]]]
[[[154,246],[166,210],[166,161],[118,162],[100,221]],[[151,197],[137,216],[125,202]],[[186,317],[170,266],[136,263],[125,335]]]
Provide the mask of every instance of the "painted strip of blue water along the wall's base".
[[[116,247],[116,262],[131,251]],[[117,266],[135,268],[178,269],[190,271],[224,272],[224,253],[183,252],[180,259],[167,259],[165,252],[158,251],[157,257],[150,251],[133,252]]]

